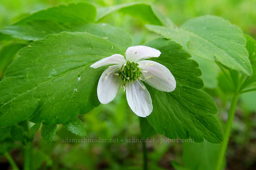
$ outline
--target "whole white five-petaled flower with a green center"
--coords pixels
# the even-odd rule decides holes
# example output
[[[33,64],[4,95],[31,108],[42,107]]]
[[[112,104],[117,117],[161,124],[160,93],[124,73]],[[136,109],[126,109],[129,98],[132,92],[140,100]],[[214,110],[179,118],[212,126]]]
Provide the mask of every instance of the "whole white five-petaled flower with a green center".
[[[153,105],[150,94],[141,81],[164,92],[172,92],[176,88],[175,78],[165,66],[144,60],[160,54],[159,50],[151,47],[132,46],[126,50],[125,57],[114,54],[92,64],[92,68],[111,65],[100,76],[97,88],[100,103],[107,104],[112,101],[121,87],[126,90],[131,110],[138,116],[148,116]]]

